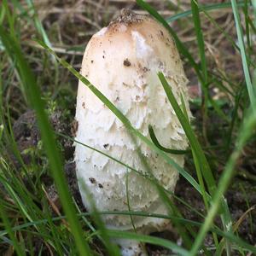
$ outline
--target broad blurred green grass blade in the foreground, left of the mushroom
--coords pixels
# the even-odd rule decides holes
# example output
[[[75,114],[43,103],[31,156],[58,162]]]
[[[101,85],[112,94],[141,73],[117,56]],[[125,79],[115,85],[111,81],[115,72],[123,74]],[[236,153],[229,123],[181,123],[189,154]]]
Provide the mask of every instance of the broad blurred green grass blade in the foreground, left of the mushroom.
[[[79,225],[79,221],[73,207],[72,198],[67,189],[68,187],[63,173],[61,157],[56,147],[53,131],[49,125],[49,119],[44,112],[44,102],[41,99],[36,80],[24,56],[22,55],[19,45],[16,44],[15,40],[13,40],[13,38],[11,38],[2,27],[0,27],[0,37],[7,52],[12,56],[15,55],[17,70],[20,73],[20,78],[26,85],[25,89],[27,97],[32,103],[37,114],[38,126],[44,142],[45,152],[48,155],[52,175],[55,179],[55,184],[60,195],[62,206],[67,214],[67,219],[70,224],[74,240],[77,244],[78,251],[81,255],[90,255],[90,248],[84,240],[83,231]]]

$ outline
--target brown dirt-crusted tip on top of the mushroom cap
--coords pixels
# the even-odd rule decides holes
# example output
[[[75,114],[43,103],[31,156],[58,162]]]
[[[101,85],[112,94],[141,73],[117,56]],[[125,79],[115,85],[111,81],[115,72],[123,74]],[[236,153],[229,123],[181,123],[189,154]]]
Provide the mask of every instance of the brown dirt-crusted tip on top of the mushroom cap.
[[[121,9],[120,15],[110,22],[109,26],[113,26],[117,23],[123,23],[125,25],[130,25],[135,22],[142,22],[146,15],[137,15],[131,9]]]

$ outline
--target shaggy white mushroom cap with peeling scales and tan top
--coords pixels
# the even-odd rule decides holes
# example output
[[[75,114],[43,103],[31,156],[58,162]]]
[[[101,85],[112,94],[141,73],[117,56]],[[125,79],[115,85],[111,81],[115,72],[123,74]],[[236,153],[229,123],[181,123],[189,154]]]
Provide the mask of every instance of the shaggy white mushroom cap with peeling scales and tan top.
[[[166,148],[184,149],[187,139],[176,114],[166,98],[157,73],[165,74],[177,102],[183,95],[189,112],[187,79],[177,48],[166,29],[144,15],[123,11],[117,20],[97,32],[87,45],[81,73],[108,97],[144,136],[152,125],[156,137]],[[131,139],[119,119],[82,83],[79,82],[76,140],[98,148],[128,166],[147,172],[137,154],[141,148],[151,171],[164,188],[174,190],[178,173],[147,145]],[[183,166],[183,155],[173,155]],[[128,195],[133,211],[166,213],[154,185],[135,172],[130,172],[106,156],[76,144],[75,161],[79,183],[84,183],[99,211],[127,211],[125,175],[129,172]],[[90,210],[83,186],[80,193]],[[133,218],[137,228],[162,230],[166,220]],[[128,216],[104,216],[108,228],[132,230]]]

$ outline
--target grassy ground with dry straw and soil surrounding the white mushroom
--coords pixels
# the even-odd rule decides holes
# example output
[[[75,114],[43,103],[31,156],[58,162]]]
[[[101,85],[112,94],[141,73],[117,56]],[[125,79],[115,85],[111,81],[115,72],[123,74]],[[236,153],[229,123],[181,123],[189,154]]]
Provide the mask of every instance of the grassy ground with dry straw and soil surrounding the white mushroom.
[[[190,121],[163,73],[158,77],[188,138],[183,152],[160,145],[151,126],[144,137],[79,73],[91,36],[122,8],[158,20],[181,55]],[[0,254],[119,255],[113,238],[142,241],[148,255],[256,254],[255,32],[253,0],[3,0]],[[168,214],[132,211],[129,197],[125,212],[86,211],[73,161],[79,80],[134,137],[179,172],[174,193],[146,177]],[[177,166],[175,154],[184,155],[185,166]],[[105,155],[137,172],[137,166]],[[131,222],[169,219],[172,230],[150,236],[109,230],[102,216],[110,214],[131,216]]]

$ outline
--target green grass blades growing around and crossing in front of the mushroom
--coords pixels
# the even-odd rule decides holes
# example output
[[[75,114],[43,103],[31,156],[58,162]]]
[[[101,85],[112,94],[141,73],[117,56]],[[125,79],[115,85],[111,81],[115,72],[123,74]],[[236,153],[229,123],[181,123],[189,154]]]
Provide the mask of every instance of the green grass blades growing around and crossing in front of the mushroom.
[[[187,150],[161,146],[150,125],[150,138],[144,137],[113,102],[73,67],[74,57],[65,54],[60,57],[55,53],[53,45],[60,34],[44,27],[38,7],[32,0],[22,3],[3,0],[0,4],[0,254],[9,251],[17,255],[44,255],[46,252],[54,255],[119,255],[119,248],[113,244],[113,238],[147,242],[166,247],[179,255],[197,255],[200,251],[205,255],[212,255],[212,252],[215,255],[232,255],[235,251],[244,255],[248,252],[256,253],[254,245],[237,232],[247,215],[250,218],[248,231],[252,236],[254,232],[255,208],[250,208],[245,187],[239,184],[236,188],[241,191],[248,208],[240,220],[231,217],[232,206],[225,198],[225,192],[229,191],[230,183],[239,168],[239,160],[250,160],[255,154],[254,149],[248,150],[253,143],[255,145],[256,138],[255,79],[252,76],[255,72],[255,44],[252,36],[256,31],[256,19],[250,9],[251,3],[231,0],[231,3],[206,5],[201,1],[191,0],[189,10],[165,19],[156,8],[143,0],[137,0],[137,6],[148,11],[172,34],[185,62],[185,70],[190,70],[193,78],[201,84],[201,96],[194,103],[191,102],[196,117],[190,123],[183,96],[180,96],[182,103],[179,105],[163,73],[158,74],[167,99],[188,137]],[[172,4],[170,9],[177,11],[183,8]],[[233,33],[225,31],[218,20],[213,18],[215,16],[212,14],[220,9],[229,9],[230,14],[233,13]],[[204,26],[205,18],[218,31],[219,37],[223,37],[225,44],[236,52],[236,60],[241,61],[243,74],[238,79],[236,76],[230,79],[229,69],[212,68],[207,49],[209,42]],[[195,45],[184,43],[178,31],[171,26],[172,22],[181,22],[180,26],[193,24],[189,36],[195,38]],[[24,24],[32,30],[29,38],[32,43],[28,44],[24,40],[24,33],[28,33]],[[78,45],[70,45],[69,48],[71,47],[83,48]],[[63,44],[63,49],[68,48]],[[41,68],[40,72],[36,67]],[[147,144],[148,148],[179,172],[187,186],[200,195],[203,209],[197,209],[186,198],[179,198],[164,189],[150,171],[146,159],[143,160],[148,174],[144,175],[133,166],[116,159],[114,155],[91,148],[83,142],[76,142],[96,150],[120,166],[125,166],[129,172],[137,172],[148,179],[169,210],[166,215],[133,211],[129,201],[127,172],[126,212],[99,212],[92,198],[90,204],[93,211],[81,212],[68,189],[63,172],[64,148],[59,143],[60,140],[74,140],[68,134],[54,131],[50,124],[51,115],[56,109],[61,110],[67,122],[73,120],[73,116],[70,117],[73,111],[69,108],[74,104],[76,89],[73,89],[73,84],[77,84],[78,79],[116,115],[130,131],[131,137]],[[224,93],[224,103],[212,96],[213,88]],[[33,109],[35,112],[40,138],[37,145],[22,151],[13,125],[15,119],[26,109]],[[201,121],[197,123],[196,119]],[[218,127],[218,124],[214,124],[215,120],[223,125]],[[218,131],[218,136],[214,134],[214,130]],[[249,153],[245,154],[247,151]],[[185,167],[178,166],[172,160],[172,154],[185,155],[188,164]],[[31,159],[29,163],[24,158],[26,155]],[[217,173],[219,167],[222,169],[221,173]],[[45,177],[51,178],[51,182],[55,183],[61,201],[61,207],[57,207],[60,212],[49,207],[50,203],[55,202],[47,199]],[[250,182],[252,186],[255,184],[253,178]],[[87,190],[86,187],[84,189]],[[173,200],[169,199],[171,195]],[[193,212],[197,220],[187,218],[183,208]],[[102,215],[106,214],[130,216],[134,232],[108,230],[102,221]],[[182,245],[178,246],[176,241],[139,234],[133,224],[133,217],[136,216],[170,219],[177,236],[182,237]],[[212,238],[211,246],[205,243],[206,236],[208,239]],[[35,246],[38,247],[37,251],[34,250]]]

